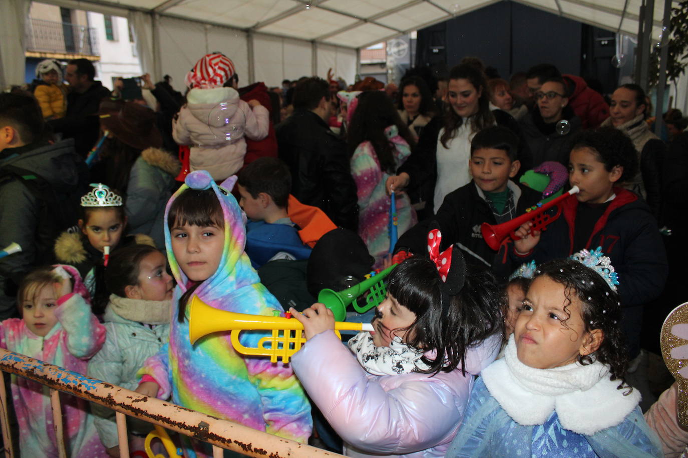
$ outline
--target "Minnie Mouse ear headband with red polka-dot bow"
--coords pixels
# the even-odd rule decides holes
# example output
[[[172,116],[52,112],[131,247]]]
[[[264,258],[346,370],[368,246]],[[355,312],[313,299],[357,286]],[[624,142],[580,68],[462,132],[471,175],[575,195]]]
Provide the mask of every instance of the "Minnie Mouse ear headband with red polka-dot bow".
[[[433,226],[437,226],[436,222]],[[446,315],[449,310],[449,298],[458,295],[464,287],[466,260],[461,250],[454,249],[453,245],[440,253],[441,243],[440,229],[431,229],[428,233],[428,255],[442,280],[442,314]]]

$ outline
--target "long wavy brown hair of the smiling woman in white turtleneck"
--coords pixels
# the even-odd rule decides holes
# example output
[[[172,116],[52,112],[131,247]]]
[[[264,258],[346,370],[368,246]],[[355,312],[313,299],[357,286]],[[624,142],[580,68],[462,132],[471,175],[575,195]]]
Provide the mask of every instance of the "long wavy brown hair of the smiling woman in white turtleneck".
[[[449,71],[449,81],[468,80],[475,91],[482,91],[478,99],[477,113],[473,116],[473,132],[478,132],[488,126],[495,124],[495,116],[490,110],[490,94],[487,87],[485,74],[470,64],[455,65]],[[440,141],[444,148],[449,148],[449,141],[456,135],[458,128],[464,123],[464,119],[456,114],[451,104],[444,104],[444,132]]]

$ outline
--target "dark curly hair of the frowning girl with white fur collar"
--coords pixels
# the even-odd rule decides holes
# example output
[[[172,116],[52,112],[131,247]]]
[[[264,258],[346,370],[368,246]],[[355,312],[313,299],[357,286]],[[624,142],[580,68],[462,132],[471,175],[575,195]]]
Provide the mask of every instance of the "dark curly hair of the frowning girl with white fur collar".
[[[630,394],[632,387],[626,384],[625,376],[628,367],[628,354],[625,339],[621,331],[621,299],[619,294],[609,287],[605,279],[592,268],[571,259],[555,260],[537,267],[535,278],[546,276],[564,287],[566,303],[563,311],[571,316],[568,308],[576,299],[581,304],[581,318],[585,332],[599,329],[604,338],[600,347],[592,354],[579,355],[577,360],[581,365],[599,361],[610,367],[610,380],[619,380],[617,389],[627,389],[625,395]],[[566,326],[564,319],[561,321]]]

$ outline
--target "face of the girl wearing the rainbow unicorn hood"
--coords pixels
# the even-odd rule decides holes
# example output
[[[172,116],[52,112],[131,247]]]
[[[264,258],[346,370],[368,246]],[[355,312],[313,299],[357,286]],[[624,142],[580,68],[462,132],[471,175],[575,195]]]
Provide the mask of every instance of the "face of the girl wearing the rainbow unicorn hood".
[[[217,271],[224,248],[223,228],[178,225],[175,222],[170,236],[175,258],[193,282],[204,282]]]

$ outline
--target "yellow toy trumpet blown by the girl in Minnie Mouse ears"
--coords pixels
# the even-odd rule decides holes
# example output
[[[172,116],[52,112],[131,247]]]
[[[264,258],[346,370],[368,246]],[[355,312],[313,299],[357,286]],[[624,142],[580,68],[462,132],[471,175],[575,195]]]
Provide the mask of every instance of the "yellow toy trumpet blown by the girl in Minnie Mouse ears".
[[[239,334],[246,330],[272,330],[272,336],[263,337],[257,347],[245,347],[239,343]],[[372,331],[369,323],[349,323],[336,321],[334,332],[341,339],[339,331]],[[295,318],[264,317],[246,313],[228,312],[208,306],[197,296],[191,299],[189,308],[189,341],[193,345],[198,339],[213,332],[233,331],[232,345],[237,353],[250,356],[270,356],[271,363],[288,363],[292,354],[301,350],[305,339],[301,335],[303,325]]]

